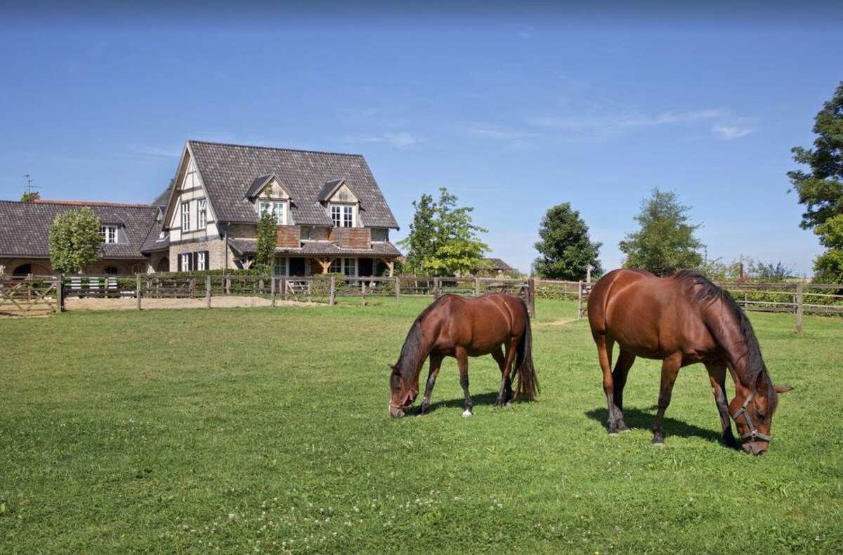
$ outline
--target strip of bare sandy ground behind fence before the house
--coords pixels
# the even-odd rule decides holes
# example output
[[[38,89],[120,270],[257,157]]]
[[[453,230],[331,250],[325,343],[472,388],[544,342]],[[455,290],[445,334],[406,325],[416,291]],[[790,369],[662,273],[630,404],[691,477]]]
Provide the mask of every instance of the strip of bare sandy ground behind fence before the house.
[[[137,299],[65,299],[65,309],[79,310],[137,310]],[[318,306],[315,303],[298,303],[276,299],[276,306]],[[212,297],[211,308],[250,308],[271,306],[271,299],[261,297]],[[207,299],[141,299],[142,309],[205,309]]]

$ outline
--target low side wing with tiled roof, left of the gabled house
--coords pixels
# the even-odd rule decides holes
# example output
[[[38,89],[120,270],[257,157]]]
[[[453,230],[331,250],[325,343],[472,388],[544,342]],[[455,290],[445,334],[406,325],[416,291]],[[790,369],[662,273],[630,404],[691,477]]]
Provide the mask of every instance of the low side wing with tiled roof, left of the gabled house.
[[[53,272],[47,241],[56,215],[89,207],[99,218],[104,243],[102,257],[86,273],[131,274],[146,272],[148,259],[141,252],[158,210],[143,204],[107,202],[0,201],[0,275],[50,275]]]

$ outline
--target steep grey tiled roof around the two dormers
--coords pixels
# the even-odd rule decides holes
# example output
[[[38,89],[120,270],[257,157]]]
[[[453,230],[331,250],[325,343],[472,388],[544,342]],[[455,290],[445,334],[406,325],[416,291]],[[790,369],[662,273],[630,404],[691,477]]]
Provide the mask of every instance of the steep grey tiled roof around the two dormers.
[[[187,146],[220,222],[257,224],[258,214],[244,197],[258,177],[274,174],[293,197],[291,213],[298,225],[332,225],[319,203],[319,193],[330,181],[346,180],[360,197],[363,226],[398,229],[372,171],[359,154],[201,141],[188,141]]]

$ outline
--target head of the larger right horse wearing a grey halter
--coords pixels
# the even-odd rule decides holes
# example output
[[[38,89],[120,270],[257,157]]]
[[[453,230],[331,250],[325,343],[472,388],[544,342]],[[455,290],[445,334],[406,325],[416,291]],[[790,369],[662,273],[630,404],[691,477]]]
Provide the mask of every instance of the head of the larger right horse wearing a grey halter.
[[[779,393],[791,391],[787,385],[773,386],[765,374],[755,381],[755,388],[741,399],[737,395],[729,403],[729,412],[738,428],[741,448],[753,455],[763,455],[770,447],[770,428],[776,412]]]

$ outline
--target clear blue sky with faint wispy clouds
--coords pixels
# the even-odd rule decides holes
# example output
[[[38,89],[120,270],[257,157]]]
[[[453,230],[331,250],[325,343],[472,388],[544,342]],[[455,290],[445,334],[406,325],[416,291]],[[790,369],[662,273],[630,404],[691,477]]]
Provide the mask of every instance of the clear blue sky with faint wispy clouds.
[[[822,251],[786,172],[843,80],[835,3],[71,4],[0,8],[2,199],[151,202],[190,138],[364,155],[393,240],[447,187],[524,272],[561,202],[619,267],[654,187],[709,260]]]

